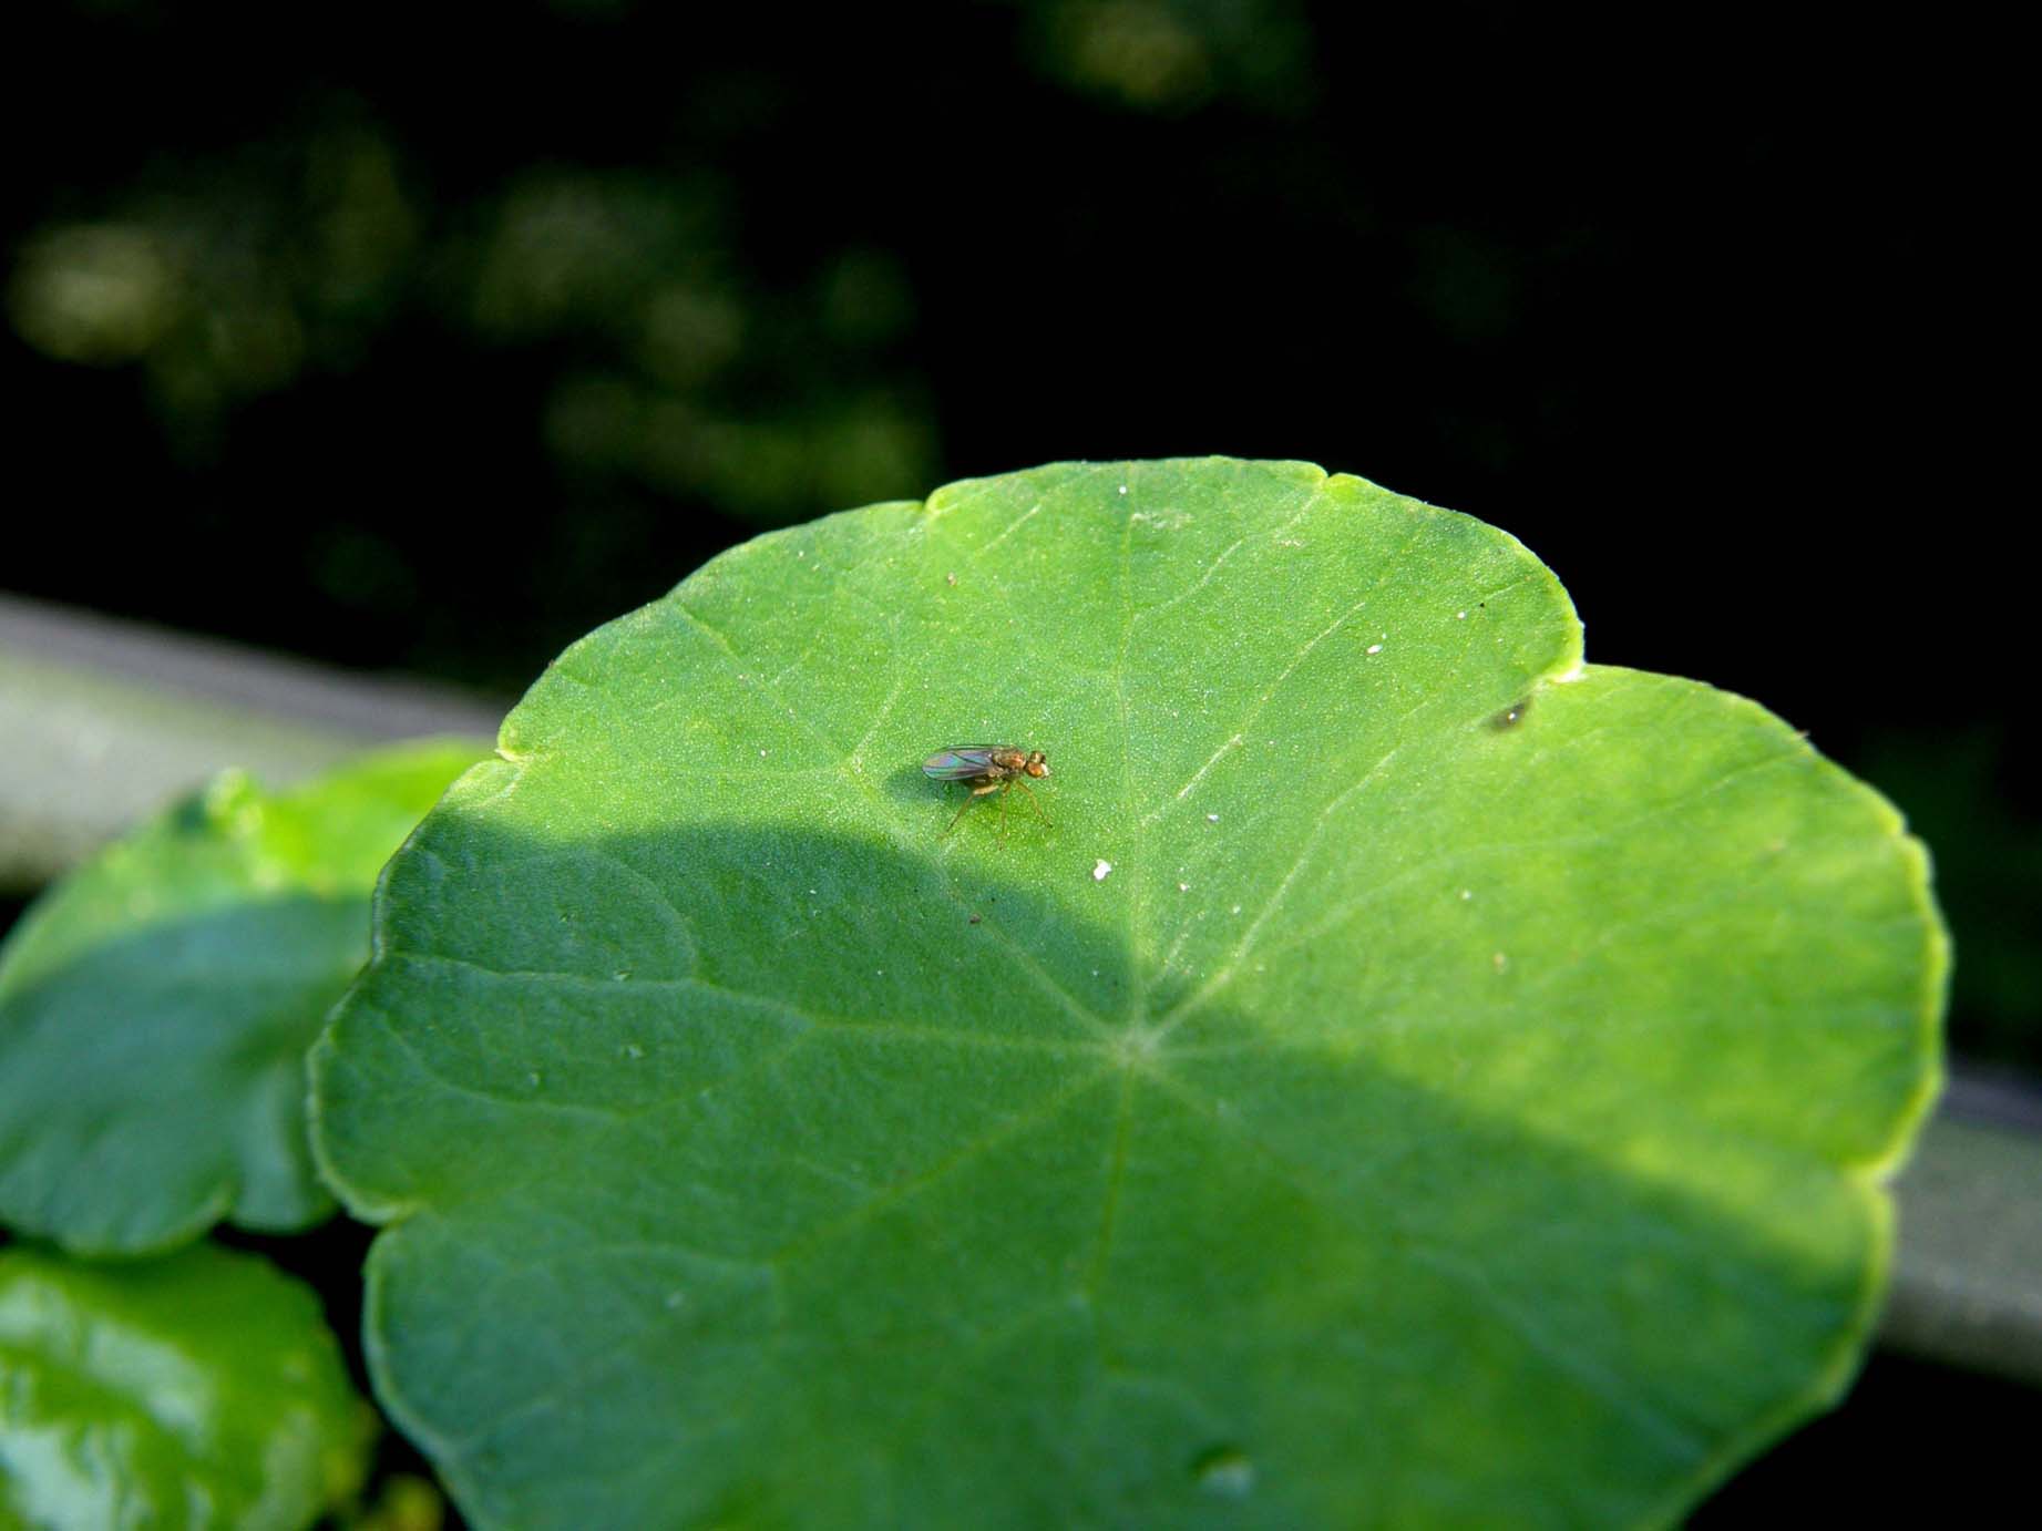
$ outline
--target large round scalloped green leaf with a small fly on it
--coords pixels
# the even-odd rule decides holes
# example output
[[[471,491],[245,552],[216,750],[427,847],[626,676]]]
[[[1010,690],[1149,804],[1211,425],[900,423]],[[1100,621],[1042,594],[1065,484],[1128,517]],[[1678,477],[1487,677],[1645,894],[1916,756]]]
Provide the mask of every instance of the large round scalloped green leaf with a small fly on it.
[[[945,833],[970,743],[1052,776]],[[1623,1525],[1844,1386],[1942,968],[1877,794],[1507,535],[1062,465],[568,649],[314,1145],[482,1525]]]

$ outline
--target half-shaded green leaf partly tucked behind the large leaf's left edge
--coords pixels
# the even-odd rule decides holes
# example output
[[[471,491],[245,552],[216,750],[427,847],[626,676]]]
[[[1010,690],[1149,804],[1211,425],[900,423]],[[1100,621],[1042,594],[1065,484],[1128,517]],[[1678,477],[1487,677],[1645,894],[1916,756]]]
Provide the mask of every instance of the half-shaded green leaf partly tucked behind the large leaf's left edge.
[[[0,947],[0,1221],[137,1253],[327,1217],[304,1053],[368,959],[376,874],[478,753],[276,794],[227,772],[37,900]]]

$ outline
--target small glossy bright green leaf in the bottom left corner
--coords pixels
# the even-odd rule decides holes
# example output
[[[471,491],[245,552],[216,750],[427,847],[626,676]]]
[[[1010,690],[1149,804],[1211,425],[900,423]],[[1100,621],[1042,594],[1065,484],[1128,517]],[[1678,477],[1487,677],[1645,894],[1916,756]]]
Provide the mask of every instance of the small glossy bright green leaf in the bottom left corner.
[[[290,1531],[374,1429],[319,1298],[253,1255],[0,1251],[0,1525]]]

